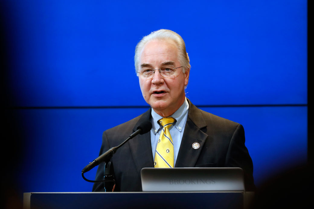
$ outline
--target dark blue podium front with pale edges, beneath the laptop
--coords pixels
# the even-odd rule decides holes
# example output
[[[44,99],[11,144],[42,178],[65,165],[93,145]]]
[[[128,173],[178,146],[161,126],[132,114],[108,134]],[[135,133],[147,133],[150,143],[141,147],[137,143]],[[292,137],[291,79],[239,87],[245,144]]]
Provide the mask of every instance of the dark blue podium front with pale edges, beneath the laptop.
[[[24,209],[211,208],[245,209],[253,192],[29,192]]]

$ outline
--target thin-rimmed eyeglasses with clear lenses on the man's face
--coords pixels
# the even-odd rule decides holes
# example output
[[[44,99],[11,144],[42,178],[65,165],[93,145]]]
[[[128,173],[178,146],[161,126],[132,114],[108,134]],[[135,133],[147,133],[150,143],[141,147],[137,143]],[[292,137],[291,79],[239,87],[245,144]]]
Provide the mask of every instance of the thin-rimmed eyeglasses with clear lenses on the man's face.
[[[183,66],[181,66],[183,67]],[[176,76],[176,69],[180,67],[176,67],[173,65],[166,65],[162,66],[160,69],[154,69],[154,68],[147,68],[144,67],[142,69],[137,70],[136,72],[139,73],[144,78],[150,79],[154,76],[155,71],[159,71],[160,75],[165,78],[171,78],[173,76]]]

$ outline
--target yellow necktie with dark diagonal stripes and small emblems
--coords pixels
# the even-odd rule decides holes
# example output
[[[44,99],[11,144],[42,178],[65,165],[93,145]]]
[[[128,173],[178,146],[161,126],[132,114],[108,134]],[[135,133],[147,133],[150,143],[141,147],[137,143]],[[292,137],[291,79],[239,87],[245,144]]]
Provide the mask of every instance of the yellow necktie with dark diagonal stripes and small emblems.
[[[169,128],[175,122],[174,118],[162,118],[158,121],[162,125],[162,131],[157,143],[155,153],[155,168],[173,168],[173,141]]]

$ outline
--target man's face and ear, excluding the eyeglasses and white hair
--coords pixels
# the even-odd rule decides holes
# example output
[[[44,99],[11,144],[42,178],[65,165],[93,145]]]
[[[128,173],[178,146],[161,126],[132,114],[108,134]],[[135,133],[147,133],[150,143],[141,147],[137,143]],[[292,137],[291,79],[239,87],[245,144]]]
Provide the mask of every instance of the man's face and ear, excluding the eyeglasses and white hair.
[[[178,60],[176,44],[172,40],[151,40],[140,54],[139,65],[160,69],[171,62],[175,68],[182,66]],[[186,69],[185,73],[182,72],[182,68],[176,69],[176,76],[172,78],[162,77],[159,71],[155,71],[150,79],[140,75],[138,78],[145,101],[159,115],[168,117],[183,104],[184,86],[189,80],[189,69]]]

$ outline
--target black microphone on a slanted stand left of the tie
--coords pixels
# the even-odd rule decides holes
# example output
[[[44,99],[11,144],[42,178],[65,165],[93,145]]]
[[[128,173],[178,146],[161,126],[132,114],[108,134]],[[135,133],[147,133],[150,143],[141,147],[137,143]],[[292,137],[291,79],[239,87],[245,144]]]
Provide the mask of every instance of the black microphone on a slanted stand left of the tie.
[[[122,142],[122,144],[120,144],[117,147],[112,147],[108,149],[105,153],[101,154],[98,158],[94,159],[93,162],[86,165],[85,168],[82,170],[82,174],[99,165],[101,162],[105,161],[108,163],[113,154],[115,154],[117,149],[119,149],[123,144],[125,144],[128,140],[134,138],[138,134],[144,134],[149,132],[150,129],[152,129],[152,123],[150,123],[149,121],[144,121],[140,123],[139,126],[136,128],[136,131],[132,133],[124,142]]]

